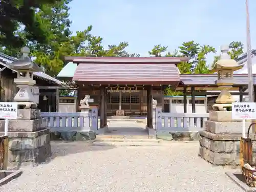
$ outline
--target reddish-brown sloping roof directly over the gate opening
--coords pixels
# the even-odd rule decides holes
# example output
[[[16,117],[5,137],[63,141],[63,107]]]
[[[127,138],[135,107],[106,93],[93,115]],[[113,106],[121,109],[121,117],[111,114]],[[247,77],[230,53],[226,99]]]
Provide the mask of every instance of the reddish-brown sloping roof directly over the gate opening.
[[[73,81],[90,84],[170,84],[179,82],[180,74],[175,64],[80,63]]]

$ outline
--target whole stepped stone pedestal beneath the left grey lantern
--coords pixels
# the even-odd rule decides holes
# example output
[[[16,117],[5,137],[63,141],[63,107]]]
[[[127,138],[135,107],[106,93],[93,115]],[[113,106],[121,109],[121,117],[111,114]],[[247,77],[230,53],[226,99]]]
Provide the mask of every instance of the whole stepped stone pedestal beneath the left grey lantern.
[[[0,120],[0,134],[4,134],[4,126],[5,120]],[[9,120],[8,167],[50,160],[50,131],[45,127],[40,110],[18,110],[18,118]]]

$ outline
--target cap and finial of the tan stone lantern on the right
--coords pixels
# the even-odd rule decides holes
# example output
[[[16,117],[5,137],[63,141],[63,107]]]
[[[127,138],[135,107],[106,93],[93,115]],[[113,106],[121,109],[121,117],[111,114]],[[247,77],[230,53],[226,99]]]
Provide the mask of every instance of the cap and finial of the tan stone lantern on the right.
[[[230,58],[228,49],[228,46],[221,46],[221,58],[215,63],[214,69],[211,72],[218,72],[220,70],[237,71],[243,68],[244,65],[238,65],[236,60]]]

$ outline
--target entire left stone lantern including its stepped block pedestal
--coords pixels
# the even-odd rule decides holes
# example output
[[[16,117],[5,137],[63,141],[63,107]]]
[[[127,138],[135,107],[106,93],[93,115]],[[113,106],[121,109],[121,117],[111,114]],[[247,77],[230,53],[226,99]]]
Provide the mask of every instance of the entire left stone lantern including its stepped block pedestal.
[[[37,109],[31,93],[31,86],[36,83],[33,72],[40,71],[40,68],[29,58],[29,52],[29,48],[23,48],[23,56],[9,64],[9,68],[17,71],[14,82],[19,88],[14,97],[18,104],[17,119],[8,121],[10,167],[23,163],[36,165],[50,160],[51,157],[50,129],[47,128],[46,120],[41,118],[40,109]],[[0,120],[0,132],[4,127],[5,120]]]

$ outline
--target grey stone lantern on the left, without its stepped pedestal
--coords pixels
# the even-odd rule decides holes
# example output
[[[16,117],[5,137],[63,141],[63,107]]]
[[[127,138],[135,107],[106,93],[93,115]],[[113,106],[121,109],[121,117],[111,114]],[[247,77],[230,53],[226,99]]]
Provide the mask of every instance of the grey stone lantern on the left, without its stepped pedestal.
[[[35,98],[31,93],[31,86],[35,84],[33,72],[41,70],[29,57],[29,48],[22,48],[20,53],[22,53],[23,56],[9,64],[11,69],[17,71],[17,78],[14,79],[14,82],[17,84],[19,91],[14,97],[14,101],[18,102],[20,109],[36,109],[37,104],[34,102]]]

